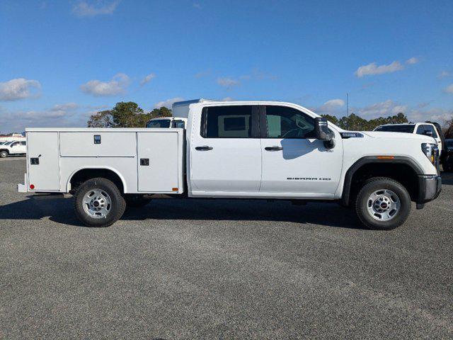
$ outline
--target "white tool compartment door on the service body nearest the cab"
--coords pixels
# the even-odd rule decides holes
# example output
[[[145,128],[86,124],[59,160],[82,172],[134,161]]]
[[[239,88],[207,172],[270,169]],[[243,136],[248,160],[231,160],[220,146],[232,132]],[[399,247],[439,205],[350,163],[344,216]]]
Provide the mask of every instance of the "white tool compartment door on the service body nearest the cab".
[[[179,187],[178,132],[137,132],[138,191],[175,193]]]

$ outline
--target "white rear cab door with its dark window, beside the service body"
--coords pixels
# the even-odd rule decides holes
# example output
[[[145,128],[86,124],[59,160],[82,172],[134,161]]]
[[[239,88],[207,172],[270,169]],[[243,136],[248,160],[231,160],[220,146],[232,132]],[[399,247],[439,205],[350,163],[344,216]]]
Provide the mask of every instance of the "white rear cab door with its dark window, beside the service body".
[[[256,106],[207,106],[194,121],[190,142],[193,196],[258,193],[261,145]]]

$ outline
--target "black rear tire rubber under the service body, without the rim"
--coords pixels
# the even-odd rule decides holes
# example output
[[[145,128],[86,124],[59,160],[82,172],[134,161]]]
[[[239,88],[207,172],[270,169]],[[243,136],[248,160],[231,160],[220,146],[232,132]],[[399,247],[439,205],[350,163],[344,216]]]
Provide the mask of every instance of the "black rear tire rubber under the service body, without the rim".
[[[106,193],[111,200],[111,205],[105,217],[95,218],[86,212],[84,204],[84,197],[87,193],[93,190],[99,190]],[[74,210],[76,216],[87,227],[108,227],[113,225],[117,220],[120,220],[122,214],[125,212],[126,203],[122,197],[117,186],[112,181],[103,178],[88,179],[77,188],[74,195]]]

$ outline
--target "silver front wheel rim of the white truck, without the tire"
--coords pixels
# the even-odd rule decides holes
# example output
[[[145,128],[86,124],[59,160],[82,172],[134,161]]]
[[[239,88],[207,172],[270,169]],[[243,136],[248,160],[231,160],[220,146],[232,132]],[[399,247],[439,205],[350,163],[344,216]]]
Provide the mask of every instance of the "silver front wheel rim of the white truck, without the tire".
[[[398,215],[401,202],[391,190],[380,189],[374,191],[367,200],[367,210],[374,220],[389,221]]]

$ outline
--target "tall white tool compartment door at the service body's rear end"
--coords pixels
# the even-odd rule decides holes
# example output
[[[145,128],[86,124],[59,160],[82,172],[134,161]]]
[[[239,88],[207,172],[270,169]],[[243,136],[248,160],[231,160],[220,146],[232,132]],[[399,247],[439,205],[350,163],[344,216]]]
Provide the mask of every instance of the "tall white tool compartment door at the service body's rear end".
[[[29,190],[59,191],[58,132],[27,132],[27,146]]]

